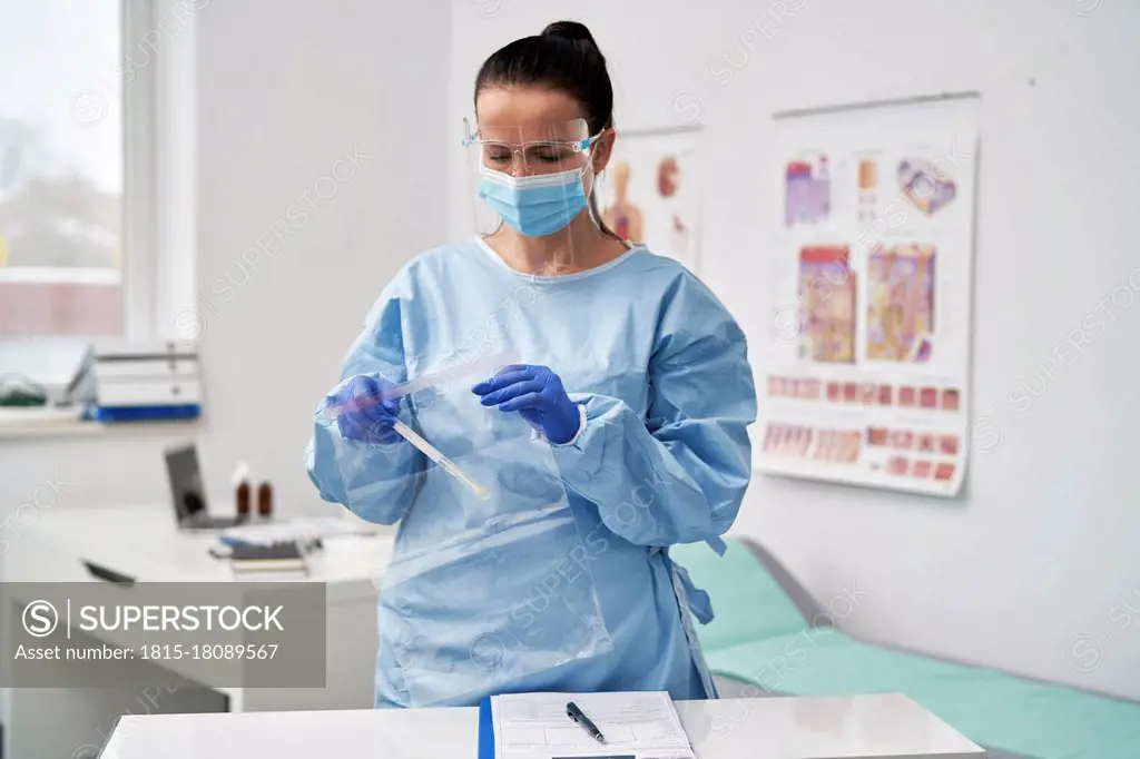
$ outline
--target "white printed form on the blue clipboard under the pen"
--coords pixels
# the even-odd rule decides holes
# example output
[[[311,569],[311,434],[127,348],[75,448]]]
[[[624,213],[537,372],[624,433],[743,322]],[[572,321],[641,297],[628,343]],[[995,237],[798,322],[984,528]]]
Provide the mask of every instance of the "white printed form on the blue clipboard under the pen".
[[[598,743],[567,717],[573,701],[597,726]],[[498,759],[635,757],[694,759],[669,694],[520,693],[491,697]]]

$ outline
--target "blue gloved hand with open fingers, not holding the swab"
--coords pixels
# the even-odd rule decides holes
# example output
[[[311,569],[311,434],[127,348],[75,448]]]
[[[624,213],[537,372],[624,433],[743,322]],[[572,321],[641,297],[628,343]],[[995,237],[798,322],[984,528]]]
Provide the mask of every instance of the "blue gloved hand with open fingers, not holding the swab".
[[[559,375],[545,366],[512,364],[471,391],[482,398],[483,406],[519,411],[559,446],[573,440],[581,426],[578,406],[567,395]]]

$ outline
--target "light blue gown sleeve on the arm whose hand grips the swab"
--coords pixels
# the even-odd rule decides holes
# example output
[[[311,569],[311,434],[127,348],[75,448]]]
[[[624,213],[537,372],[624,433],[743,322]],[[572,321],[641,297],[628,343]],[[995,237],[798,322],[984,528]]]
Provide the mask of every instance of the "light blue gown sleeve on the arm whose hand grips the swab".
[[[342,436],[335,418],[321,411],[352,377],[380,375],[393,384],[407,382],[404,352],[404,303],[409,300],[401,272],[376,301],[341,367],[341,381],[318,405],[312,438],[306,449],[309,479],[324,500],[343,504],[368,522],[394,524],[416,495],[415,476],[423,454],[406,441],[380,444]]]

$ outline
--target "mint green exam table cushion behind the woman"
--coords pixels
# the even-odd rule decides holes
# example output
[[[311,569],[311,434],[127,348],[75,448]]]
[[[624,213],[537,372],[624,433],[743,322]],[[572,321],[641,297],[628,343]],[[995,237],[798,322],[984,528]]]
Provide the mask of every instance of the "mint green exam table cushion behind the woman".
[[[697,632],[715,675],[757,695],[905,693],[974,742],[1036,759],[1140,758],[1140,704],[814,628],[792,601],[801,588],[785,591],[748,546],[726,542],[724,557],[670,549],[712,599],[716,619]]]

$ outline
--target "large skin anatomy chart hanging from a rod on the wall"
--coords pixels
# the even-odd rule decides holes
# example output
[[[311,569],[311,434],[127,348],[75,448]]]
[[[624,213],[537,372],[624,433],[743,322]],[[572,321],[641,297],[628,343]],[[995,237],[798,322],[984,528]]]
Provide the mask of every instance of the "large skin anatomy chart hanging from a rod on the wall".
[[[977,114],[948,96],[776,117],[762,472],[958,493]]]

